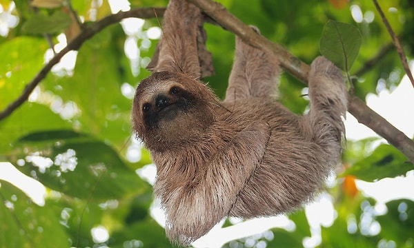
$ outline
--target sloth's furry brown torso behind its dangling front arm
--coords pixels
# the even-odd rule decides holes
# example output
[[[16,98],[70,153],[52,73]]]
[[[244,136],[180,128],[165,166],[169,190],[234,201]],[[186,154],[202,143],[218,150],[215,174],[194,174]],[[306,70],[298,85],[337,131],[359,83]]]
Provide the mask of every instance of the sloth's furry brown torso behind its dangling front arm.
[[[237,132],[254,122],[267,123],[271,129],[262,163],[246,183],[230,216],[274,216],[311,200],[322,188],[331,165],[324,161],[324,149],[314,141],[307,116],[293,114],[272,99],[241,99],[224,103],[224,107],[227,111],[219,120]]]

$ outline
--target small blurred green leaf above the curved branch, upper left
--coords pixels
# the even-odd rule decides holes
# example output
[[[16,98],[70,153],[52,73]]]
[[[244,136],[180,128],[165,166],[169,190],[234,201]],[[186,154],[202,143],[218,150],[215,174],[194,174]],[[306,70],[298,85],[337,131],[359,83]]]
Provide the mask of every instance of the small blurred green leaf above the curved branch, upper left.
[[[21,29],[27,34],[55,34],[62,32],[70,23],[72,23],[70,15],[57,10],[50,16],[42,13],[34,14],[23,23]]]

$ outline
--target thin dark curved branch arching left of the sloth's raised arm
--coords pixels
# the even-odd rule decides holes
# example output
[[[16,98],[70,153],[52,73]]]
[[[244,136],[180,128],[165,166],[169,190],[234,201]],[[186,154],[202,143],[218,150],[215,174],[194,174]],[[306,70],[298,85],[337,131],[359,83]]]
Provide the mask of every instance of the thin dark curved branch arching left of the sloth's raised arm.
[[[78,34],[77,37],[72,39],[66,48],[63,48],[59,53],[55,54],[55,56],[48,62],[40,72],[37,73],[36,76],[24,87],[23,92],[21,92],[20,96],[10,103],[3,111],[0,112],[0,120],[6,118],[14,110],[20,107],[25,101],[28,100],[30,94],[34,90],[34,88],[42,81],[48,72],[52,70],[52,67],[59,63],[61,58],[70,52],[71,50],[79,50],[81,45],[93,37],[97,32],[101,31],[103,28],[106,28],[108,25],[112,25],[114,23],[119,23],[122,19],[126,19],[128,17],[137,17],[142,19],[149,19],[152,17],[161,17],[164,14],[166,8],[138,8],[132,9],[125,12],[118,12],[117,14],[111,14],[108,17],[104,17],[103,19],[93,23],[92,25],[88,25]]]

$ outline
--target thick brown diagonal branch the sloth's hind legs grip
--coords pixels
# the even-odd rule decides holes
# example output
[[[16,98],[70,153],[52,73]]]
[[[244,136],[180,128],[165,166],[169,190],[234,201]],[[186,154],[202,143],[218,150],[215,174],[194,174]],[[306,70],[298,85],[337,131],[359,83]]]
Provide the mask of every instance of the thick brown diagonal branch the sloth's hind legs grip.
[[[211,0],[188,0],[201,8],[212,19],[221,26],[235,33],[246,43],[255,47],[265,48],[277,54],[280,58],[282,67],[306,83],[310,70],[306,63],[295,58],[288,50],[281,45],[268,41],[268,39],[254,32],[248,25],[230,14],[224,6]],[[400,130],[397,130],[391,123],[388,123],[382,116],[371,110],[361,99],[356,96],[348,95],[348,111],[357,118],[359,123],[370,127],[374,132],[384,137],[391,145],[399,149],[411,163],[414,163],[414,141],[408,138]]]

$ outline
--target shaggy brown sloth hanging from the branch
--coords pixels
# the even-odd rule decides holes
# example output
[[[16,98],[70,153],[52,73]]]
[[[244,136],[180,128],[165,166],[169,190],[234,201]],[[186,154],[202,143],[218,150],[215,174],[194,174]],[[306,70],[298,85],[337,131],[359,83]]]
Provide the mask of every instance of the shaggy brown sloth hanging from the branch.
[[[323,56],[311,64],[311,106],[299,116],[275,100],[275,54],[236,38],[219,101],[200,80],[202,21],[193,4],[170,1],[152,74],[132,103],[133,131],[157,166],[166,234],[184,246],[226,216],[275,216],[308,203],[340,163],[345,132],[342,72]]]

